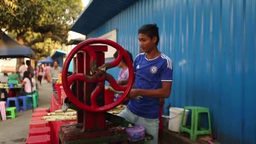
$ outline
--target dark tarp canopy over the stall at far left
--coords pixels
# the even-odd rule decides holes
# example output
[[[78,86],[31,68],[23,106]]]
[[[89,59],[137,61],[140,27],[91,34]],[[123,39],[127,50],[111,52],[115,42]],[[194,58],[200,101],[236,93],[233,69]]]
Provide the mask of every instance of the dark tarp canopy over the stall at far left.
[[[35,52],[0,32],[0,59],[7,58],[35,58]]]

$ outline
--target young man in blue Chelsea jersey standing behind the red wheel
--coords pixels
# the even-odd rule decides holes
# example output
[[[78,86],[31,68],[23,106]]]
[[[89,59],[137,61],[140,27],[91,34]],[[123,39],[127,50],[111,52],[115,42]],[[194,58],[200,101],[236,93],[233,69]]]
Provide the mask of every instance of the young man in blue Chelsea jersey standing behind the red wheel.
[[[146,132],[154,136],[147,144],[157,144],[159,128],[160,99],[168,98],[173,80],[171,59],[157,49],[158,27],[146,24],[139,31],[141,51],[133,62],[135,83],[129,93],[130,102],[119,114],[120,117],[143,125]],[[140,99],[133,99],[141,96]]]

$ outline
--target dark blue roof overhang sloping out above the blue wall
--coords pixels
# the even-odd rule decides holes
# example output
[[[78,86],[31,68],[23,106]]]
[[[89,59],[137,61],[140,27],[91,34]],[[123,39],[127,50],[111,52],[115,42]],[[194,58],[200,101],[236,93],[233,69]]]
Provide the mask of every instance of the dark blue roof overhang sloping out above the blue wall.
[[[136,1],[138,0],[91,0],[71,30],[87,35]]]

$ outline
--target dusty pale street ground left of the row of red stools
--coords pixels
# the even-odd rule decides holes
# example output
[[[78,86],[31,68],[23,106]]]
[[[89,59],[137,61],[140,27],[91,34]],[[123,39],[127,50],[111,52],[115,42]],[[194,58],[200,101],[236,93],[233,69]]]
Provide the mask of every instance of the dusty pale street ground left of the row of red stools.
[[[0,81],[7,80],[7,77],[0,75]],[[39,106],[50,107],[51,105],[51,84],[46,81],[38,87]],[[32,117],[32,109],[21,111],[15,119],[8,118],[0,121],[0,144],[25,144],[29,135],[29,123]]]

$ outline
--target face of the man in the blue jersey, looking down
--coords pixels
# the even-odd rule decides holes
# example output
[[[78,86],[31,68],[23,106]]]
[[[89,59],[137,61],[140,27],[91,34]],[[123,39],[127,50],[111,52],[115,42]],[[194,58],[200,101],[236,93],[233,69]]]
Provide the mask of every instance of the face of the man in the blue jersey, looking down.
[[[157,41],[157,37],[149,37],[148,35],[139,34],[139,46],[141,48],[141,52],[150,52],[155,46],[155,43]]]

